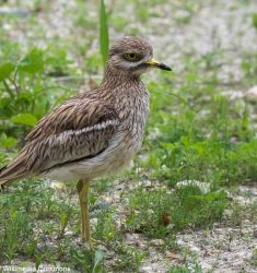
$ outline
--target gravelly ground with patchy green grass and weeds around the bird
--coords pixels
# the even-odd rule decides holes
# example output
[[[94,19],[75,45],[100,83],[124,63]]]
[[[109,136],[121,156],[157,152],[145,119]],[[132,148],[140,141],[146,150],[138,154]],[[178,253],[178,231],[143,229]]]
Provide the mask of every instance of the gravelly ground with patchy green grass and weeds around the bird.
[[[256,1],[105,4],[110,43],[142,35],[173,68],[143,75],[143,149],[131,169],[91,183],[93,236],[104,241],[92,251],[80,241],[75,182],[32,178],[1,192],[0,265],[257,272]],[[1,3],[0,66],[17,66],[0,73],[1,165],[46,111],[101,82],[98,11],[96,1]]]

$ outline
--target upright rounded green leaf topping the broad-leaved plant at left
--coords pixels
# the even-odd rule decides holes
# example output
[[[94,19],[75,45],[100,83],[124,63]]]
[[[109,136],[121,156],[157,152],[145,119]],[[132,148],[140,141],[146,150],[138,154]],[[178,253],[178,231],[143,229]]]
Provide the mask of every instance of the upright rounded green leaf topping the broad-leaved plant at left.
[[[19,62],[19,69],[27,73],[37,73],[44,70],[43,51],[34,48],[31,52]]]

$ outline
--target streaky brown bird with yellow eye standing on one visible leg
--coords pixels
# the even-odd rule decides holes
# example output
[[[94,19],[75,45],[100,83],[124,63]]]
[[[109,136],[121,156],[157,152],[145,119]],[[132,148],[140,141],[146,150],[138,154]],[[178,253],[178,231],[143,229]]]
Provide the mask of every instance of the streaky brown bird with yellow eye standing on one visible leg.
[[[172,69],[153,58],[142,37],[124,36],[109,49],[103,81],[43,117],[20,153],[0,169],[0,186],[31,176],[77,181],[82,241],[92,246],[89,185],[129,165],[140,151],[149,116],[142,73]]]

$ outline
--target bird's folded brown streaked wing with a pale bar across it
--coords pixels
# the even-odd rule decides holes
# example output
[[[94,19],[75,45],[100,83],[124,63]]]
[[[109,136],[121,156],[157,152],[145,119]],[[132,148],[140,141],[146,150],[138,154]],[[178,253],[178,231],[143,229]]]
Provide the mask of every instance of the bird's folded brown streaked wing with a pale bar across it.
[[[115,109],[97,99],[67,100],[38,121],[20,154],[0,169],[0,185],[96,156],[108,146],[119,122]]]

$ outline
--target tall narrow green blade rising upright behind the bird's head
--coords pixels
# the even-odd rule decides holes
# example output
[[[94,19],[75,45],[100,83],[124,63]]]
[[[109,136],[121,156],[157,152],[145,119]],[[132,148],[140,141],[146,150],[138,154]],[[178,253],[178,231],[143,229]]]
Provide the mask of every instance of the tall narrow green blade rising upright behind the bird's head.
[[[101,55],[103,58],[103,64],[105,66],[108,58],[109,36],[108,36],[107,14],[105,11],[104,0],[101,0],[101,8],[100,8],[100,46],[101,46]]]

